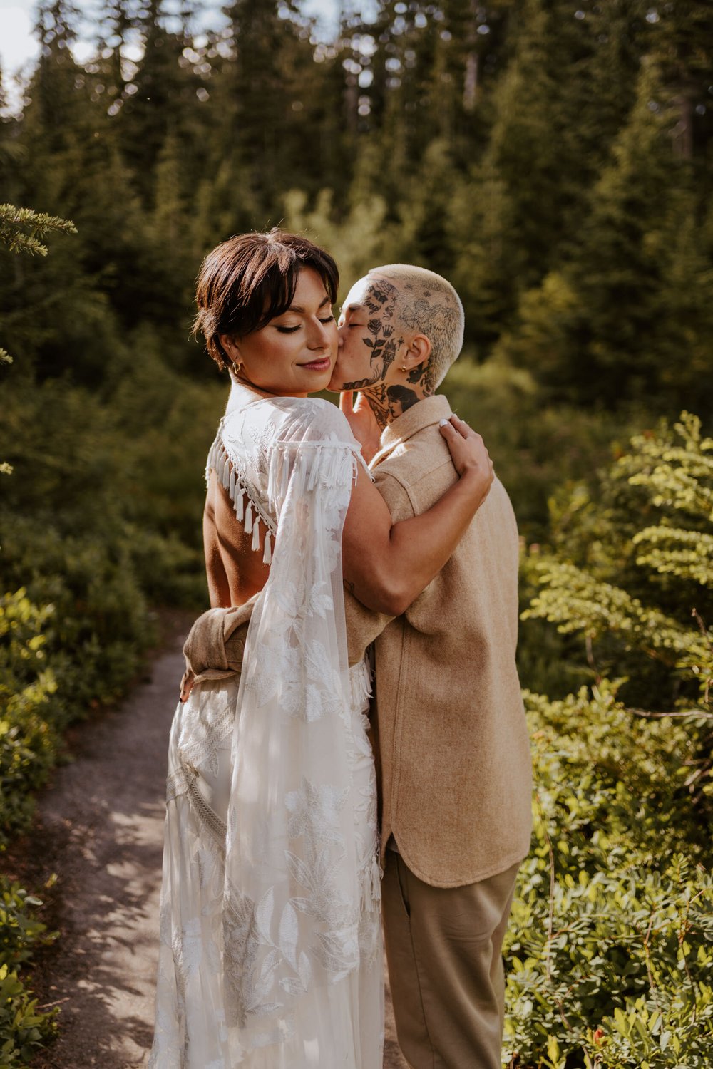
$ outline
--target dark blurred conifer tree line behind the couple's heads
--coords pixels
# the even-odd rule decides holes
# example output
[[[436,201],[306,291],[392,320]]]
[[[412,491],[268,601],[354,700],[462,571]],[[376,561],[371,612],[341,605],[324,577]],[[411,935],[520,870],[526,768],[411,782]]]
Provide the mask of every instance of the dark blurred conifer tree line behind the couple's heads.
[[[185,330],[204,251],[294,224],[298,203],[339,258],[360,244],[358,208],[361,264],[405,259],[458,282],[479,361],[526,367],[548,398],[586,407],[710,407],[708,5],[343,12],[321,40],[295,2],[220,14],[113,0],[80,65],[71,46],[87,15],[45,0],[22,112],[2,124],[0,196],[63,212],[80,237],[58,246],[49,275],[2,278],[11,344],[52,282],[55,335],[22,336],[42,375],[97,385],[115,340],[131,347],[148,324],[173,367],[204,377]]]

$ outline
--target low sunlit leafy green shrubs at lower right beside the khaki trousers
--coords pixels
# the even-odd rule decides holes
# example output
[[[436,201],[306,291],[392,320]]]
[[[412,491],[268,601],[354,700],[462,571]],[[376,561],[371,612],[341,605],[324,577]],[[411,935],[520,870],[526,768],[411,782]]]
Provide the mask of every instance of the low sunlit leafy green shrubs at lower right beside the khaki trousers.
[[[713,880],[677,775],[685,728],[632,723],[608,684],[527,699],[534,839],[508,935],[507,1054],[538,1069],[703,1069]]]

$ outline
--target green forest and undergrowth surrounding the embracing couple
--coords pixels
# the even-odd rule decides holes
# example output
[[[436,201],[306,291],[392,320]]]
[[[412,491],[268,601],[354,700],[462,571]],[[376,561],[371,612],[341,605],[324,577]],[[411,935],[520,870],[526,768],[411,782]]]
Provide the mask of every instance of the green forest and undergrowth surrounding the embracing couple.
[[[713,1064],[713,5],[41,0],[0,82],[0,843],[165,607],[207,607],[219,241],[430,267],[518,518],[532,850],[511,1069]],[[91,59],[73,45],[89,35]],[[2,856],[0,854],[0,871]],[[61,1028],[0,878],[0,1067]],[[42,897],[42,895],[41,895]]]

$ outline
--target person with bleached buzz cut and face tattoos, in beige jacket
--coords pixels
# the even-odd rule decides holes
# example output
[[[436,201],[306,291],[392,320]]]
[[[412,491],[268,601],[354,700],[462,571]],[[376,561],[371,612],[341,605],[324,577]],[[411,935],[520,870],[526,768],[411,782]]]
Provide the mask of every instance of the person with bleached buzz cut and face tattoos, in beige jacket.
[[[374,267],[343,304],[329,389],[341,393],[394,523],[423,513],[456,479],[440,430],[451,408],[436,390],[463,328],[458,293],[422,267]],[[369,538],[368,523],[352,525],[343,552],[358,554]],[[384,932],[413,1069],[501,1069],[501,946],[531,826],[517,563],[515,516],[496,478],[415,601],[394,589],[385,615],[346,597],[350,663],[371,646],[375,668]],[[239,668],[249,613],[248,603],[197,621],[186,691],[193,678]]]

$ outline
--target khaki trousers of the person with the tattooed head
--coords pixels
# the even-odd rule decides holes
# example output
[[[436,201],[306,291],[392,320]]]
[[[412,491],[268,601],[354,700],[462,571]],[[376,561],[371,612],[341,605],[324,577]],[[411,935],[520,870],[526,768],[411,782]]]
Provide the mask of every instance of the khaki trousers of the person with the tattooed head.
[[[500,948],[520,865],[432,887],[387,849],[384,938],[399,1045],[412,1069],[502,1069]]]

